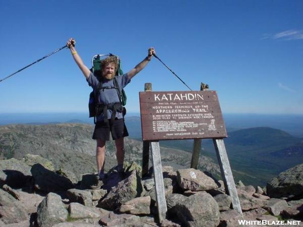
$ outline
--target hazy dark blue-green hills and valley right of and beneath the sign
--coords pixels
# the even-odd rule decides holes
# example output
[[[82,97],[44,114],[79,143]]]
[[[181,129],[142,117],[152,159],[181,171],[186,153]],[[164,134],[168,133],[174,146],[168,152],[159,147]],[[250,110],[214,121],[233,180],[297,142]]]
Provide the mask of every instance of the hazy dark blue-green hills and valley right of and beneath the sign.
[[[266,182],[286,169],[303,162],[303,139],[269,127],[257,127],[228,132],[224,139],[228,158],[236,179],[237,172],[258,176],[259,184]],[[179,147],[191,152],[192,141],[161,141],[166,147]],[[212,140],[202,141],[201,154],[217,159]],[[256,179],[242,179],[253,184]]]

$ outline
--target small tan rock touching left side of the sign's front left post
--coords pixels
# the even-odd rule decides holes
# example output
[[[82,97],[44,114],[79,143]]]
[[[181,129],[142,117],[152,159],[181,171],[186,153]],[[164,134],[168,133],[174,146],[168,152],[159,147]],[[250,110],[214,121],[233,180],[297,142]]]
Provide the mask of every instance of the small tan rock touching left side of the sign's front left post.
[[[120,207],[121,213],[150,214],[150,196],[138,197],[127,201]]]

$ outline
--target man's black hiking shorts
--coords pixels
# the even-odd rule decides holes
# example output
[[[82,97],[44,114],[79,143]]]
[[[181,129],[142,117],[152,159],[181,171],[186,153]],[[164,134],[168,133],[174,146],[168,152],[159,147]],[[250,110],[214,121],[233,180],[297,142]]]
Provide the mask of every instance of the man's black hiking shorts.
[[[116,118],[114,121],[109,119],[109,124],[105,123],[104,121],[96,122],[92,139],[102,139],[104,141],[108,141],[110,140],[110,133],[112,134],[113,140],[128,136],[123,118]]]

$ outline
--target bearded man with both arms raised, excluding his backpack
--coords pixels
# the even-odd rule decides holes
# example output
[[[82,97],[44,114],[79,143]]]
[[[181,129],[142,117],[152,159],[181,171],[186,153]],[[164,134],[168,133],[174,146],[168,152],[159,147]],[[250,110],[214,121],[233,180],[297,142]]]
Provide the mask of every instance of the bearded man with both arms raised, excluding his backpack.
[[[105,144],[106,141],[110,139],[110,132],[112,134],[113,140],[115,140],[116,144],[116,157],[117,157],[117,171],[121,173],[123,171],[123,162],[124,162],[124,137],[128,136],[127,129],[124,124],[124,119],[122,112],[117,110],[113,105],[113,103],[120,102],[118,93],[116,89],[109,89],[114,87],[113,78],[116,75],[116,71],[118,70],[118,62],[115,56],[109,56],[105,60],[102,61],[102,78],[99,80],[102,81],[103,87],[105,89],[97,89],[98,86],[98,78],[96,78],[90,70],[83,64],[79,54],[76,51],[74,46],[75,40],[70,38],[67,41],[67,46],[70,48],[73,59],[76,64],[82,71],[85,76],[89,86],[93,88],[94,91],[98,91],[98,103],[103,104],[103,106],[107,106],[104,111],[102,111],[96,117],[96,124],[93,132],[92,138],[96,140],[96,162],[98,175],[96,185],[92,188],[99,188],[103,185],[103,180],[105,177],[104,174],[104,163],[105,163]],[[156,54],[155,49],[150,47],[148,49],[148,55],[143,59],[138,65],[135,66],[128,73],[118,76],[117,82],[122,90],[137,73],[139,73],[151,60],[153,54]],[[117,110],[117,111],[116,111]],[[115,116],[112,116],[115,115]]]

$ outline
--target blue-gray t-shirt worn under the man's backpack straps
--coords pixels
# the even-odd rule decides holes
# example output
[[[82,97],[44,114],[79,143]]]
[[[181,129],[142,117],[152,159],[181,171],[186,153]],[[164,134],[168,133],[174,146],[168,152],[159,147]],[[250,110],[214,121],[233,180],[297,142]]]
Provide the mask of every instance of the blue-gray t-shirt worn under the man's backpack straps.
[[[130,79],[126,74],[117,76],[117,81],[120,86],[120,89],[122,90],[129,82]],[[90,73],[89,78],[87,79],[88,85],[92,87],[93,91],[97,89],[98,86],[98,79]],[[113,80],[107,80],[103,78],[103,85],[102,87],[114,87],[114,81]],[[98,103],[114,103],[114,102],[120,102],[118,92],[116,89],[100,89],[99,90],[99,100]],[[108,119],[111,119],[112,117],[112,110],[108,109]],[[121,112],[116,112],[116,118],[121,119],[123,118],[123,115]],[[96,117],[97,122],[104,121],[104,114],[101,113],[99,116]]]

